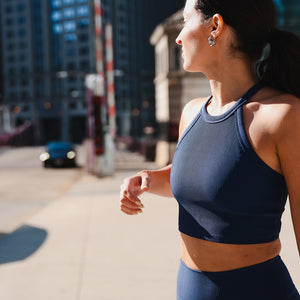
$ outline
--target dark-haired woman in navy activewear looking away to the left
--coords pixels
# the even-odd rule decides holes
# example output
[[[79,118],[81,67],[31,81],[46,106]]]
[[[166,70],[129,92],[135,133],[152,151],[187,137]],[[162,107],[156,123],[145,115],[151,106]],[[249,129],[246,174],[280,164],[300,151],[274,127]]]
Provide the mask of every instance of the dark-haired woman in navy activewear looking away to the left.
[[[178,201],[178,299],[300,299],[278,238],[289,194],[300,253],[300,43],[274,24],[272,0],[187,0],[176,42],[212,96],[185,106],[172,166],[121,186],[129,215],[145,191]]]

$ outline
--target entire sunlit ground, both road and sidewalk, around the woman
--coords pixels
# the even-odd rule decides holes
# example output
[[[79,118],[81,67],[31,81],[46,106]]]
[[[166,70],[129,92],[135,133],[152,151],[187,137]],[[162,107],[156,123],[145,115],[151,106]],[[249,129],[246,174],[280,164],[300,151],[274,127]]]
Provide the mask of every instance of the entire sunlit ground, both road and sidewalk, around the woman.
[[[118,152],[116,174],[43,169],[43,148],[0,150],[0,298],[7,300],[172,300],[180,242],[177,204],[146,193],[144,213],[119,210],[119,186],[155,168]],[[84,165],[84,149],[79,162]],[[282,253],[300,290],[299,255],[287,206]]]

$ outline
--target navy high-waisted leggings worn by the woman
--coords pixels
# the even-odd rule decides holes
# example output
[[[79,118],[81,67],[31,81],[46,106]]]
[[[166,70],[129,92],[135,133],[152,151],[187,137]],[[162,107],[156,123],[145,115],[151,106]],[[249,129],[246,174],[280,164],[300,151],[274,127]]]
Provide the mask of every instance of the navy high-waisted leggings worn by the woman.
[[[177,277],[177,300],[300,300],[280,256],[224,272],[201,272],[183,261]]]

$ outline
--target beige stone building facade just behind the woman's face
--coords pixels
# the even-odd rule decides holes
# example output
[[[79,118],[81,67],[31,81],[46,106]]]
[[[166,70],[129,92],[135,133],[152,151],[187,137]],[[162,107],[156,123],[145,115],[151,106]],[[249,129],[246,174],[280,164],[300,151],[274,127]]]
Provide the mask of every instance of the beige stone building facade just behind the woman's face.
[[[159,24],[151,35],[155,47],[155,104],[158,122],[156,162],[170,163],[176,148],[178,125],[183,107],[194,98],[208,97],[210,86],[202,73],[183,70],[180,46],[175,40],[182,25],[182,10]]]

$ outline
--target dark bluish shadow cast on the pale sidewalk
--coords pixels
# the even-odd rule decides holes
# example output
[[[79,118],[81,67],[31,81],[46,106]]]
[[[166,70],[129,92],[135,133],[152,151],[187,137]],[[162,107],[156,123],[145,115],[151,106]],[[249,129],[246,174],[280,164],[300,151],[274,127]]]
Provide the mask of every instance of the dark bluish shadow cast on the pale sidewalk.
[[[10,234],[1,234],[0,264],[26,259],[41,247],[47,235],[46,230],[29,225]]]

